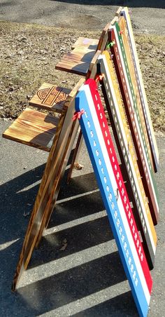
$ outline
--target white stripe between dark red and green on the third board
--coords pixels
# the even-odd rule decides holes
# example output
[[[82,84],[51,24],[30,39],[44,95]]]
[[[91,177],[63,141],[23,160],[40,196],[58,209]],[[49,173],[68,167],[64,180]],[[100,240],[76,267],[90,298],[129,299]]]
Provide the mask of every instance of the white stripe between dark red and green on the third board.
[[[121,49],[120,49],[120,43],[119,43],[119,40],[118,40],[118,37],[117,37],[117,31],[116,31],[115,27],[113,27],[113,26],[110,27],[110,29],[113,29],[114,32],[115,32],[115,37],[116,37],[116,40],[117,40],[117,48],[120,51],[120,60],[122,62],[122,67],[123,67],[123,71],[124,71],[124,77],[125,77],[125,80],[127,82],[127,89],[129,91],[129,98],[131,100],[132,108],[134,109],[134,103],[133,103],[133,100],[132,100],[132,97],[131,97],[131,90],[129,88],[129,82],[128,82],[128,78],[127,78],[127,73],[126,73],[126,69],[125,69],[125,66],[124,66],[124,61],[123,61],[123,58],[122,58],[122,52],[121,52]],[[155,197],[155,203],[157,205],[157,211],[159,213],[159,205],[157,203],[157,197],[156,197],[156,194],[155,194],[155,188],[154,188],[153,182],[152,182],[152,177],[151,177],[151,173],[150,173],[150,167],[149,167],[149,164],[148,164],[148,159],[147,159],[147,156],[145,154],[143,140],[142,140],[142,137],[141,137],[141,130],[140,130],[139,126],[138,126],[138,119],[137,119],[137,116],[136,116],[136,112],[134,112],[134,118],[135,118],[135,121],[136,121],[136,126],[137,126],[137,130],[138,130],[138,136],[139,136],[139,139],[141,140],[141,147],[143,149],[143,156],[145,158],[145,165],[148,168],[148,177],[150,178],[150,184],[151,184],[151,187],[152,187],[153,196]]]

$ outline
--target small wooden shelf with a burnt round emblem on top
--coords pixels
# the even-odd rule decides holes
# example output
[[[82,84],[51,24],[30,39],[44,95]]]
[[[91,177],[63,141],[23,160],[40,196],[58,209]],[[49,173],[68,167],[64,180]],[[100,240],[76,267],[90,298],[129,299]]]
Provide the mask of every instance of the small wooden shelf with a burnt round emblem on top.
[[[51,83],[43,83],[36,95],[29,101],[29,105],[61,113],[70,92],[71,89],[55,86]]]

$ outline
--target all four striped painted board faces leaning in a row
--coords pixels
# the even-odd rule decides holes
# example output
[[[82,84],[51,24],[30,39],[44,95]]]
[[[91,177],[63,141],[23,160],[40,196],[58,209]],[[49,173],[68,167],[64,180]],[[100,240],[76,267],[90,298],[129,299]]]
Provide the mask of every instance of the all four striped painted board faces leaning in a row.
[[[159,203],[154,174],[159,157],[127,8],[110,26],[108,39],[110,49],[99,55],[96,80],[88,79],[76,96],[76,113],[138,313],[147,316],[157,245],[154,224]]]

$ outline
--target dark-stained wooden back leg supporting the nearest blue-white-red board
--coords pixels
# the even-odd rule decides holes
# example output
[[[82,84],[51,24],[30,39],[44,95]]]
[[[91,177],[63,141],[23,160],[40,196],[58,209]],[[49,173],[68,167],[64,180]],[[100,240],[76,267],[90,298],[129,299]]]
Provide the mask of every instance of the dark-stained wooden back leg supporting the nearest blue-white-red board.
[[[83,79],[80,79],[64,104],[62,116],[59,119],[57,131],[24,237],[12,290],[15,290],[24,269],[27,269],[36,243],[40,241],[43,229],[48,225],[50,215],[54,209],[62,177],[78,131],[78,122],[73,122],[72,117],[75,112],[75,95],[83,81]]]

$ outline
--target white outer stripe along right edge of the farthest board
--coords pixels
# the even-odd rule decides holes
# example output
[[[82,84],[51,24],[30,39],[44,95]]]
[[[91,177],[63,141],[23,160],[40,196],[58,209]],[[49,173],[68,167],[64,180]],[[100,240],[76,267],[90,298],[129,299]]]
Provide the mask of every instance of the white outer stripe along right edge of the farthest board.
[[[154,133],[154,129],[152,126],[152,120],[151,120],[151,116],[150,116],[150,109],[148,107],[148,100],[146,97],[146,93],[145,93],[145,88],[144,88],[144,83],[143,83],[143,77],[141,74],[141,67],[139,64],[139,60],[138,60],[138,54],[137,54],[137,50],[136,50],[136,43],[134,40],[134,34],[133,34],[133,30],[131,27],[131,19],[129,16],[129,11],[128,8],[124,8],[121,11],[121,15],[124,15],[124,18],[127,22],[127,30],[128,30],[128,41],[129,41],[129,45],[131,48],[131,54],[132,54],[132,58],[133,58],[133,62],[134,62],[134,69],[136,72],[136,81],[138,83],[138,90],[141,96],[141,103],[143,106],[143,113],[145,116],[145,123],[146,123],[146,127],[148,129],[148,136],[149,136],[149,140],[150,140],[150,147],[152,150],[152,158],[153,158],[153,162],[154,162],[154,166],[155,166],[155,171],[157,171],[158,166],[159,166],[159,152],[157,149],[157,141],[155,138],[155,133]]]

